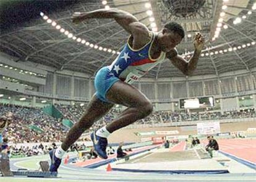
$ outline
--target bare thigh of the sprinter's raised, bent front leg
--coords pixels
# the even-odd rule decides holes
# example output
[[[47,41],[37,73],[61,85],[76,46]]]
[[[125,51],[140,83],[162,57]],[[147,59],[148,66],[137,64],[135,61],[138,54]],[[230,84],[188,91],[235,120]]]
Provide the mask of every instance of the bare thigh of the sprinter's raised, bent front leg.
[[[127,107],[143,105],[150,102],[139,89],[124,81],[114,83],[108,90],[108,93],[106,93],[106,98],[115,104],[122,104]]]

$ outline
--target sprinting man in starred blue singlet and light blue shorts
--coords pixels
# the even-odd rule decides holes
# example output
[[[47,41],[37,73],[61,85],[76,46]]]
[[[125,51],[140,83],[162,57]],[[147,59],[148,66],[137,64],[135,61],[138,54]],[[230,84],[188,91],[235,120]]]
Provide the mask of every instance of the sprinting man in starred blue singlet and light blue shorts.
[[[166,58],[184,75],[192,75],[205,43],[203,36],[198,33],[193,41],[194,55],[187,62],[177,54],[175,48],[184,38],[184,30],[178,23],[166,23],[163,30],[154,33],[133,15],[119,9],[76,12],[72,17],[74,23],[87,19],[114,19],[130,34],[130,37],[114,62],[96,73],[96,93],[89,102],[83,117],[69,130],[61,146],[50,151],[51,172],[57,172],[63,155],[85,130],[107,114],[114,104],[125,105],[127,109],[119,117],[91,134],[95,153],[107,159],[106,146],[108,146],[109,134],[147,117],[153,110],[150,100],[130,83],[141,78]]]

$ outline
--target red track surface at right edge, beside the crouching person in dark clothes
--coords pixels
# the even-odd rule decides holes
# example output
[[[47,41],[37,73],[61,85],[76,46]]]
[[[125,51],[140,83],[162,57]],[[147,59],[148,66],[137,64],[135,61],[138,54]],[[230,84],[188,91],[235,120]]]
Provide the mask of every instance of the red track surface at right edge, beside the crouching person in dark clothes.
[[[256,139],[219,139],[220,151],[256,163]]]

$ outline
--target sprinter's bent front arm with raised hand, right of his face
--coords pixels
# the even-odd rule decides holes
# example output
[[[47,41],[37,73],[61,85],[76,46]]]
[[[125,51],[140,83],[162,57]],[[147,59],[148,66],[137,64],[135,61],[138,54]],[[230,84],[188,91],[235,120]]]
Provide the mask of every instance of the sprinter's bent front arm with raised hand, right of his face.
[[[166,54],[166,57],[170,59],[173,65],[179,68],[179,70],[181,70],[184,75],[192,75],[195,68],[197,68],[197,62],[205,44],[205,38],[203,38],[203,36],[198,33],[195,36],[193,44],[195,47],[195,51],[189,62],[187,62],[187,60],[183,59],[181,56],[177,55],[176,49],[173,49]]]

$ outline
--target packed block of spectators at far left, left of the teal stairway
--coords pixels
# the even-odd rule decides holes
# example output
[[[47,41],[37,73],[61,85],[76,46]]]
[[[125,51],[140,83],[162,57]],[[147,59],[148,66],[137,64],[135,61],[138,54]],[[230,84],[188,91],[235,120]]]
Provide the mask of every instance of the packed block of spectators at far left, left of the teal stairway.
[[[45,114],[41,109],[0,104],[0,115],[7,112],[11,112],[13,117],[4,134],[11,143],[59,142],[67,132],[60,120]],[[33,130],[30,126],[36,126],[43,132]]]

